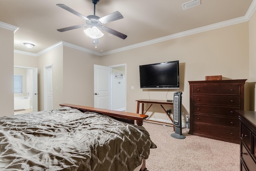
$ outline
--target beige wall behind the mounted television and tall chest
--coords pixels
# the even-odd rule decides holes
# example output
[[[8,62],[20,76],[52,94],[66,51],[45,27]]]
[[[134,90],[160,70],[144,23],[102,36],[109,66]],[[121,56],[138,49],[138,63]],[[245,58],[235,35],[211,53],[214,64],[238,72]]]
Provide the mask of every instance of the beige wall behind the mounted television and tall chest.
[[[248,47],[248,22],[244,22],[106,55],[101,62],[105,66],[127,64],[127,111],[136,112],[136,99],[166,100],[166,96],[173,99],[175,91],[182,91],[182,111],[188,115],[188,81],[204,80],[205,76],[211,75],[222,75],[224,79],[249,79]],[[169,92],[140,89],[139,65],[174,60],[180,61],[181,89]],[[155,107],[152,111],[158,112],[158,109]],[[164,119],[166,115],[156,117]]]

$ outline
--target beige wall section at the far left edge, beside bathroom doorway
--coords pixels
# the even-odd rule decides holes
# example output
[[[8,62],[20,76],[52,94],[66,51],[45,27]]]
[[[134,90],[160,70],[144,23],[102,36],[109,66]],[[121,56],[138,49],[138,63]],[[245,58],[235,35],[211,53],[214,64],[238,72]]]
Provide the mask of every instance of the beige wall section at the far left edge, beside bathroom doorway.
[[[0,116],[14,114],[13,45],[14,32],[0,27]]]

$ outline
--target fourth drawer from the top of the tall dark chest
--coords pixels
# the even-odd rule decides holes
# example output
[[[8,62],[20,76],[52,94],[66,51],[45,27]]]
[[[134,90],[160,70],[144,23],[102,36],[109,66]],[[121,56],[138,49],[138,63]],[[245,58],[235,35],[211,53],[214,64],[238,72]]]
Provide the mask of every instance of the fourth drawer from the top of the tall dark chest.
[[[239,128],[239,120],[227,117],[216,117],[207,115],[193,115],[193,121],[199,123],[208,123],[213,125],[228,126],[233,128]]]

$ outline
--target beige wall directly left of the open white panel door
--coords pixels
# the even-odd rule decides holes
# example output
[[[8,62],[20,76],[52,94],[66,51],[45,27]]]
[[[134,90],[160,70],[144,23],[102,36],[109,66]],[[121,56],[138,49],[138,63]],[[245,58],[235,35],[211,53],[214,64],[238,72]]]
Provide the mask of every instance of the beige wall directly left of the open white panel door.
[[[64,46],[63,103],[94,106],[94,64],[100,56]]]

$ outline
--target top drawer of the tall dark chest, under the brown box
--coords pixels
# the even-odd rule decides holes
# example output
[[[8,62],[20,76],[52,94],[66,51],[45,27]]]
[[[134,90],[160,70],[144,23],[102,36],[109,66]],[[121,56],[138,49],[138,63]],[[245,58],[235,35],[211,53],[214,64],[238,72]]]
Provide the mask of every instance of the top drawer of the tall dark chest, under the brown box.
[[[240,95],[239,85],[226,85],[226,86],[193,86],[193,94],[227,94],[227,95]]]

